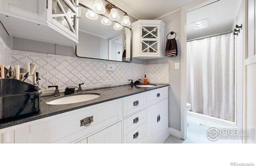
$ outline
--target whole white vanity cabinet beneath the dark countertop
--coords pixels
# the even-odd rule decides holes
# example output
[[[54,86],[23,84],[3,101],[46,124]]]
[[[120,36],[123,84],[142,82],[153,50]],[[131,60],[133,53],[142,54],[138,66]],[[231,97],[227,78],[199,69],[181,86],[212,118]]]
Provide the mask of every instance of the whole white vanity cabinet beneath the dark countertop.
[[[167,92],[162,87],[3,128],[0,143],[161,143],[170,135]]]

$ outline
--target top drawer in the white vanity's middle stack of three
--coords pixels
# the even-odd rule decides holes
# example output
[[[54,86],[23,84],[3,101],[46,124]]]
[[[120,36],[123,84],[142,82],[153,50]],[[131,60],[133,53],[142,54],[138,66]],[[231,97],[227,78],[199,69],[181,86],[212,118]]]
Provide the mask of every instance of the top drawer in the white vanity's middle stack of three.
[[[132,95],[124,99],[124,117],[146,107],[146,93]]]

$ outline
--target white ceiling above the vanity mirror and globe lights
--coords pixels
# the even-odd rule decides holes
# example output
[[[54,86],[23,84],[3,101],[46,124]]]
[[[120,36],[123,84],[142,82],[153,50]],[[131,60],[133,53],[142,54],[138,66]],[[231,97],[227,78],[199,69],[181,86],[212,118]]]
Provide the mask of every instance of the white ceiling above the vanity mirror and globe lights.
[[[196,0],[109,0],[137,20],[154,20]]]

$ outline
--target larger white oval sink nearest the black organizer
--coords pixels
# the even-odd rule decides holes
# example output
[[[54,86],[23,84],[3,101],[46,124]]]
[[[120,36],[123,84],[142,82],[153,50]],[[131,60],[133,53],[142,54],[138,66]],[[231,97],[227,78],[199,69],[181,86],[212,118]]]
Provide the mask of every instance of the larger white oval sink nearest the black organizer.
[[[47,100],[45,103],[49,105],[72,104],[72,103],[80,103],[83,101],[89,101],[92,99],[96,99],[98,97],[100,97],[100,94],[98,93],[85,93],[85,94],[54,97],[52,99]]]

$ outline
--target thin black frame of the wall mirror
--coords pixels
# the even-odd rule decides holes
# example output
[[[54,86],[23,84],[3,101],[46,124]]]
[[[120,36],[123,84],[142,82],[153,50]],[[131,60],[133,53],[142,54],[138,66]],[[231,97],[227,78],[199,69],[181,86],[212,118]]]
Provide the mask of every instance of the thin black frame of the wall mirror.
[[[92,10],[91,8],[85,6],[84,4],[78,3],[78,5],[80,5],[81,7],[84,7],[84,8],[86,8],[86,9],[88,9],[88,10]],[[93,10],[92,10],[92,11],[93,11]],[[98,14],[98,13],[96,13],[96,14]],[[100,16],[102,16],[102,17],[104,17],[104,18],[108,18],[108,17],[105,16],[104,14],[98,14],[98,15],[100,15]],[[112,20],[111,20],[111,21],[112,21]],[[116,23],[120,24],[120,23],[117,22],[117,21],[112,21],[112,22],[116,22]],[[130,55],[130,61],[115,61],[115,62],[131,63],[131,62],[132,62],[132,29],[129,28],[129,27],[127,27],[127,26],[123,26],[123,27],[128,28],[128,29],[130,30],[130,32],[131,32],[131,35],[130,35],[130,54],[131,54],[131,55]],[[78,38],[78,42],[79,42],[79,38]],[[78,44],[79,44],[79,43],[78,43]],[[80,56],[77,55],[77,45],[76,45],[76,56],[77,56],[77,57],[80,57]],[[93,57],[81,57],[81,58],[99,59],[99,58],[93,58]],[[114,61],[114,60],[109,60],[109,59],[100,59],[100,60],[104,60],[104,61]]]

